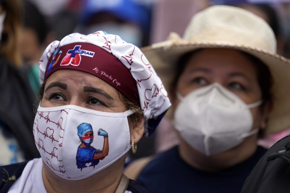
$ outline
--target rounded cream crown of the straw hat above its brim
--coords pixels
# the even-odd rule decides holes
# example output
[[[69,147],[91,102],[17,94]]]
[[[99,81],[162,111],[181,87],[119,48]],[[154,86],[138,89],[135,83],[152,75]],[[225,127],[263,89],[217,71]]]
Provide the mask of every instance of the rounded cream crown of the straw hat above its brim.
[[[276,53],[276,38],[266,21],[242,8],[227,5],[215,5],[195,14],[183,39]]]

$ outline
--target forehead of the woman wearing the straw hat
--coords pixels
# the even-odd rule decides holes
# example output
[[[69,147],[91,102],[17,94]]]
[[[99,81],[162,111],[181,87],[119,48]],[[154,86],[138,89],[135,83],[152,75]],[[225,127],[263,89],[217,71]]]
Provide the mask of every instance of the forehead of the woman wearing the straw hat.
[[[256,74],[256,68],[247,55],[234,49],[201,49],[193,53],[185,67],[207,68],[213,71],[241,71]]]

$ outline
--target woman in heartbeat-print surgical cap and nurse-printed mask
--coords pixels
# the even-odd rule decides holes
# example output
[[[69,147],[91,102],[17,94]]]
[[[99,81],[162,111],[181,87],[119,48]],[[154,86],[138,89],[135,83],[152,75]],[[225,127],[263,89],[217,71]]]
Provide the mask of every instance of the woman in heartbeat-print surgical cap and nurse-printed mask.
[[[124,161],[171,104],[140,49],[103,31],[72,33],[39,68],[41,158],[0,168],[1,192],[149,192],[123,175]]]

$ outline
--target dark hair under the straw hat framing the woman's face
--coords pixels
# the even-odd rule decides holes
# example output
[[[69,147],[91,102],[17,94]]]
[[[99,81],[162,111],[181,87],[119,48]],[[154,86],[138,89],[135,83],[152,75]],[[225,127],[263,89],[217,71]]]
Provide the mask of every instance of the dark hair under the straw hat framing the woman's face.
[[[193,52],[188,52],[179,57],[175,64],[175,78],[173,79],[173,82],[171,84],[173,89],[176,88],[178,79],[180,78],[186,65],[188,64],[189,59],[200,50],[201,49],[195,50]],[[250,55],[246,52],[240,52],[243,53],[255,65],[258,83],[262,91],[262,99],[264,102],[270,101],[272,99],[272,94],[270,92],[272,87],[272,76],[268,66],[266,66],[261,60],[259,60],[255,56]]]

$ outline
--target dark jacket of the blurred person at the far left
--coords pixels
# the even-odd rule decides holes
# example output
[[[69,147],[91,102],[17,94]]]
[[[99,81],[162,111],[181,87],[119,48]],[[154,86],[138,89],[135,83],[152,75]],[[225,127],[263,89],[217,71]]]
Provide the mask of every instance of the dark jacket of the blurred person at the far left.
[[[27,75],[0,56],[0,120],[14,134],[26,159],[40,157],[32,133],[35,95]]]

